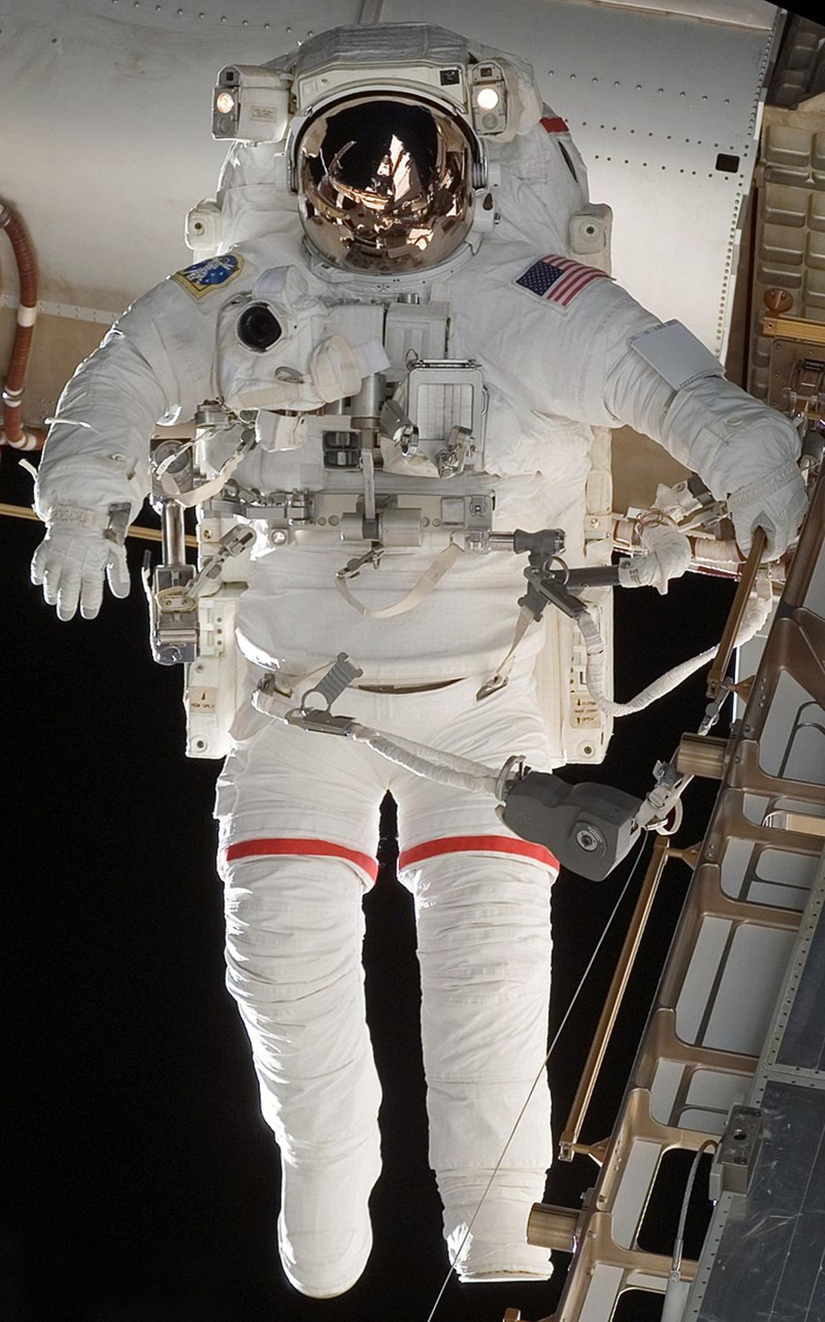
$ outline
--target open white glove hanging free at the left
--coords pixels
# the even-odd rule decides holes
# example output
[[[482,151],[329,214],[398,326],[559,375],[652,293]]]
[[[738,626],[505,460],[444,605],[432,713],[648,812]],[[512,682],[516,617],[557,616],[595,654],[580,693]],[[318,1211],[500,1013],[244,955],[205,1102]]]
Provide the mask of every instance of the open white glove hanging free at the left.
[[[49,527],[34,551],[32,583],[42,583],[57,617],[70,620],[81,605],[85,620],[94,620],[103,600],[103,571],[115,596],[128,596],[126,550],[97,527],[58,525]]]

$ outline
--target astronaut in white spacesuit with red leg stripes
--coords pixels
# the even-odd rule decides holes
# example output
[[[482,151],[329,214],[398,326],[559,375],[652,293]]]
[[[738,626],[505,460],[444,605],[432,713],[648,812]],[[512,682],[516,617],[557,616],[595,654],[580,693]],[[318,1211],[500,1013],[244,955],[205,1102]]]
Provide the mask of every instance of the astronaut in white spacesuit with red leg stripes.
[[[491,534],[559,527],[583,563],[592,428],[629,424],[727,501],[743,551],[760,526],[776,557],[805,508],[799,438],[685,328],[571,253],[584,169],[524,61],[390,24],[321,33],[263,74],[251,111],[283,122],[230,151],[229,241],[132,304],[61,397],[34,582],[62,620],[78,604],[97,615],[104,572],[128,591],[123,527],[148,492],[153,427],[210,401],[230,423],[256,419],[233,473],[256,531],[237,617],[253,682],[266,670],[300,694],[348,652],[362,676],[346,711],[364,723],[547,768],[543,627],[506,682],[487,682],[524,588]],[[219,104],[250,119],[243,86]],[[235,443],[218,435],[213,475]],[[370,1252],[381,1089],[361,899],[387,789],[415,899],[444,1235],[463,1281],[546,1278],[547,1255],[525,1243],[551,1159],[543,1079],[468,1227],[541,1075],[555,861],[487,801],[348,740],[250,703],[231,734],[216,808],[227,985],[280,1147],[290,1281],[341,1294]]]

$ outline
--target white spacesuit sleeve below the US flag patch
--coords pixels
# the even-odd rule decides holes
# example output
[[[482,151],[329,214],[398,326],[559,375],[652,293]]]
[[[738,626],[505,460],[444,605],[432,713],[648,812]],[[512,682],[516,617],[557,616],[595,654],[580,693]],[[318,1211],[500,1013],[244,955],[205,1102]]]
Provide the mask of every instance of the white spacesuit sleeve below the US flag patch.
[[[662,324],[607,280],[586,290],[580,303],[582,311],[596,304],[599,317],[587,394],[602,416],[587,420],[607,415],[609,426],[650,436],[697,472],[717,500],[766,475],[792,473],[800,438],[789,420],[726,381],[721,364],[684,327]]]

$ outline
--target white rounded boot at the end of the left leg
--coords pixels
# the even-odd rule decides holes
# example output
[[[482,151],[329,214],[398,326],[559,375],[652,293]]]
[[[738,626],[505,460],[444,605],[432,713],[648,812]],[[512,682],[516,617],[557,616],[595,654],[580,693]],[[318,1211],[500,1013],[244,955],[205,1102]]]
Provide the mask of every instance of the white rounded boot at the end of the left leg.
[[[345,1294],[373,1247],[369,1195],[381,1174],[377,1136],[329,1159],[301,1157],[296,1163],[282,1153],[280,1167],[278,1251],[287,1280],[313,1300]]]

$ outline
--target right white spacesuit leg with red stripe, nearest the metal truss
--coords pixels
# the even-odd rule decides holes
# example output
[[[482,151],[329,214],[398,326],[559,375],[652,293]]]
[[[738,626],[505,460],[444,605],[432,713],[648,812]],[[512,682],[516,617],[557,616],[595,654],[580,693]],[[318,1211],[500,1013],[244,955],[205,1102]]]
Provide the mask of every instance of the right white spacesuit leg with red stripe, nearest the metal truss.
[[[427,739],[493,767],[513,752],[547,764],[530,674]],[[399,874],[418,921],[430,1163],[451,1260],[464,1281],[546,1278],[549,1255],[525,1233],[551,1161],[543,1060],[558,865],[506,830],[488,800],[412,779],[398,797]]]

